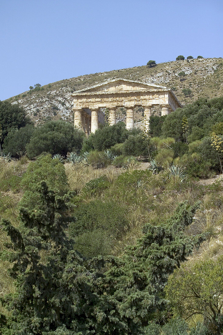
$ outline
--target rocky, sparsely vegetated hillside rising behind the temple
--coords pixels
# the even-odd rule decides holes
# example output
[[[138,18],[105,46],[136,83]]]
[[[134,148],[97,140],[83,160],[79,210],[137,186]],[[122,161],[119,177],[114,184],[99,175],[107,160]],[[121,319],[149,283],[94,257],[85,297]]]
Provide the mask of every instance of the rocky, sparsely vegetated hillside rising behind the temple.
[[[178,73],[186,76],[180,81]],[[36,124],[46,120],[59,119],[73,121],[71,93],[113,78],[126,78],[171,87],[182,104],[190,103],[198,97],[212,98],[223,95],[223,59],[203,58],[171,61],[155,67],[138,66],[128,69],[94,73],[60,80],[9,98],[11,103],[19,103]],[[185,97],[183,88],[191,88],[191,96]],[[136,120],[142,118],[141,113]],[[121,117],[122,119],[122,117]]]

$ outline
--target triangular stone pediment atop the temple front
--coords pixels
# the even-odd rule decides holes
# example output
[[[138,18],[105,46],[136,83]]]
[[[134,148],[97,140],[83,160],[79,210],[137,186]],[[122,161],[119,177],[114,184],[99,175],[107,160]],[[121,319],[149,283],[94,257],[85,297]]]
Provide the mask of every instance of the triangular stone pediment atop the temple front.
[[[139,81],[127,80],[127,79],[112,79],[105,81],[104,83],[94,85],[91,87],[84,88],[75,93],[84,92],[115,92],[115,91],[142,91],[142,90],[159,90],[168,89],[164,86],[147,84]]]

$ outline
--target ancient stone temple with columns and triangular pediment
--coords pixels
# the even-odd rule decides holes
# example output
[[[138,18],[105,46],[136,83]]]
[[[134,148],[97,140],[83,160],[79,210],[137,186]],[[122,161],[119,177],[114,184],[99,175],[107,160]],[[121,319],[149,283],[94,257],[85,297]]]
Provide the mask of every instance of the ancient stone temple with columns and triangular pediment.
[[[109,124],[116,123],[116,110],[126,108],[126,128],[134,127],[134,108],[144,108],[144,126],[149,130],[149,119],[154,107],[166,115],[182,107],[170,88],[127,79],[112,79],[75,91],[73,97],[74,125],[86,134],[94,133],[103,123],[101,108],[109,110]]]

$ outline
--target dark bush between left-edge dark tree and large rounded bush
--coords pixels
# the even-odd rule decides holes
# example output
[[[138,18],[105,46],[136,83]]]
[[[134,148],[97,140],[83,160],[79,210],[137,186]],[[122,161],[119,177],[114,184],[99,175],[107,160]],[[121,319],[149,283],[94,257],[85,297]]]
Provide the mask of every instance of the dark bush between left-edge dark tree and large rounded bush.
[[[27,124],[20,129],[11,129],[4,139],[3,152],[10,153],[12,157],[18,158],[26,152],[26,145],[33,134],[34,126]]]

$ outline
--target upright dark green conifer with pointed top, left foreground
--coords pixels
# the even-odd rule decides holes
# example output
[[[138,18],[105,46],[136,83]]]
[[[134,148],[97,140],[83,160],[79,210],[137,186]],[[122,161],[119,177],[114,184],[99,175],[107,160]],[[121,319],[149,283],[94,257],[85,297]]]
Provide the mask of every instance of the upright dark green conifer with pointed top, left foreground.
[[[1,299],[12,315],[0,317],[0,334],[60,334],[61,329],[61,334],[90,334],[92,321],[87,316],[97,298],[90,284],[97,275],[85,268],[83,257],[73,250],[74,241],[65,233],[73,219],[65,214],[71,194],[59,197],[45,182],[39,192],[38,209],[20,209],[22,232],[2,221],[11,243],[0,256],[12,263],[9,274],[16,291]]]

